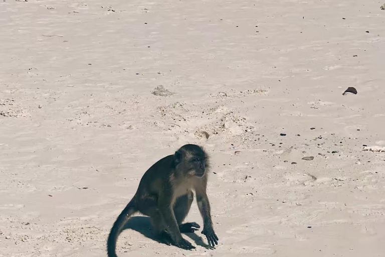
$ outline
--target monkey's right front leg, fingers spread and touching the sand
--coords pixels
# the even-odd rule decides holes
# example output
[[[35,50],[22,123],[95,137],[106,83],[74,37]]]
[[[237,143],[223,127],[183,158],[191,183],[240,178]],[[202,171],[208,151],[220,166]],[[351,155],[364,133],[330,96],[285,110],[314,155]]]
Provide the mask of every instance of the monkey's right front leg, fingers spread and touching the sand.
[[[204,224],[202,234],[206,235],[209,245],[214,247],[215,244],[218,244],[218,236],[214,232],[213,221],[211,220],[210,214],[210,202],[207,194],[204,192],[197,192],[197,203]]]

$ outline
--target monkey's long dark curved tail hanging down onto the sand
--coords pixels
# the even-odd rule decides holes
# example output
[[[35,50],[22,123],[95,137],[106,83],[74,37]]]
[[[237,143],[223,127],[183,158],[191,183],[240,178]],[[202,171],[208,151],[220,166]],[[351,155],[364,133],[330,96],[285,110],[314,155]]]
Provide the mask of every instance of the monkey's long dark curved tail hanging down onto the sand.
[[[115,248],[116,248],[116,241],[118,239],[118,236],[122,231],[124,225],[127,223],[127,220],[130,218],[130,216],[137,211],[134,199],[135,197],[131,199],[131,201],[119,214],[118,218],[116,219],[114,225],[111,228],[110,234],[108,235],[108,239],[107,239],[108,257],[117,257]]]

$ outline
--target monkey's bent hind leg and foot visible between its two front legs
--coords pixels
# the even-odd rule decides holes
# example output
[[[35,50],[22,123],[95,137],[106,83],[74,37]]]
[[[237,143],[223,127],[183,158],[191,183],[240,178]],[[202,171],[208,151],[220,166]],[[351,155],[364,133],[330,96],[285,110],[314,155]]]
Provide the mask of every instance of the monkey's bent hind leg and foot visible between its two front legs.
[[[187,194],[182,195],[178,199],[176,199],[176,202],[174,205],[174,214],[175,214],[176,222],[179,225],[180,233],[194,233],[196,230],[198,230],[198,228],[201,227],[196,222],[182,223],[191,208],[191,204],[193,203],[193,200],[194,200],[194,194],[191,191],[189,191]]]

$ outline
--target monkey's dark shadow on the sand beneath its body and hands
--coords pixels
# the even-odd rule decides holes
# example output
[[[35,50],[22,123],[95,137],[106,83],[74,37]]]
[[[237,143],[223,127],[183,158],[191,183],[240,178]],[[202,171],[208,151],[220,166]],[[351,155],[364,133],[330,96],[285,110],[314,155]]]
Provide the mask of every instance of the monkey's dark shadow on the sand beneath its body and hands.
[[[145,217],[145,216],[131,217],[126,223],[126,225],[124,226],[123,230],[125,229],[133,229],[154,241],[157,241],[159,243],[164,243],[160,241],[159,238],[157,238],[156,234],[154,233],[149,217]],[[196,233],[184,233],[184,234],[187,235],[189,238],[191,238],[191,240],[194,240],[194,242],[197,245],[205,247],[206,249],[213,249],[213,247],[206,244],[203,241],[202,237],[197,235]]]

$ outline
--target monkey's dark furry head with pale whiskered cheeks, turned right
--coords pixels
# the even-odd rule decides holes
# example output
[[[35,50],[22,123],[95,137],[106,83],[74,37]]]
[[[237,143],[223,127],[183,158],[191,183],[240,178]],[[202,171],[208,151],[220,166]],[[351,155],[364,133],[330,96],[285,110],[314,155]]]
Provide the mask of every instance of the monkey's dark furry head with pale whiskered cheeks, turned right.
[[[203,177],[210,168],[209,156],[202,147],[184,145],[174,154],[175,168],[185,175]]]

